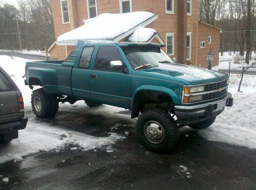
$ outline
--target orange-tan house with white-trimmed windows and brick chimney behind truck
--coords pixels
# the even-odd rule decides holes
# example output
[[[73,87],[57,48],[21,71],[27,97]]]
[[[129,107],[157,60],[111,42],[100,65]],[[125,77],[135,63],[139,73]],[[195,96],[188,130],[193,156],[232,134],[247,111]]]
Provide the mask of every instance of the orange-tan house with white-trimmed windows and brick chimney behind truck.
[[[164,50],[178,63],[207,68],[207,52],[211,49],[218,65],[219,28],[199,21],[200,0],[52,0],[56,39],[84,24],[84,20],[102,13],[152,12],[158,18],[146,28],[154,29],[166,44]],[[156,38],[152,42],[159,43]],[[51,58],[63,60],[74,48],[54,43]]]

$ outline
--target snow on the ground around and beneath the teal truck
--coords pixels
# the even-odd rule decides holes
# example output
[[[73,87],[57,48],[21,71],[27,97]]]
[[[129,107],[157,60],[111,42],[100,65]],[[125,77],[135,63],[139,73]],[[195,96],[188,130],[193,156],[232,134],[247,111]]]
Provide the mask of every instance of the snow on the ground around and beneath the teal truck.
[[[22,58],[11,59],[9,56],[0,56],[0,66],[10,74],[14,82],[23,93],[26,114],[29,116],[27,128],[19,131],[19,138],[13,140],[10,144],[0,146],[0,163],[7,160],[21,160],[23,156],[38,151],[56,150],[72,145],[81,150],[90,150],[95,148],[105,148],[109,150],[111,145],[124,138],[124,135],[109,133],[108,137],[93,137],[88,134],[76,132],[73,130],[62,129],[58,126],[50,126],[46,123],[38,122],[32,111],[30,104],[31,90],[24,85],[24,68],[27,61]],[[226,142],[234,145],[245,146],[256,149],[256,77],[254,75],[245,75],[241,90],[238,93],[240,75],[231,74],[229,92],[234,98],[234,105],[226,107],[224,112],[217,117],[216,122],[209,127],[199,131],[202,137],[209,141]],[[83,101],[78,101],[75,105],[80,109],[87,109]],[[76,109],[77,109],[76,107]],[[60,105],[60,110],[72,109],[69,103]],[[123,108],[114,106],[102,106],[100,109],[90,109],[90,114],[97,115],[115,115],[131,120],[130,116],[116,114],[124,111]],[[182,130],[194,130],[185,127]]]

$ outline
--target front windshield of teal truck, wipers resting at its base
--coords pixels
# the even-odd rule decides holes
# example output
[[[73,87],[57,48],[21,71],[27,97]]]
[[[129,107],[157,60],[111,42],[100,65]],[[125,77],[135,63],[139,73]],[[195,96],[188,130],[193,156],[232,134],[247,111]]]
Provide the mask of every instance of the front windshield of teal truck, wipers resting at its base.
[[[122,47],[133,69],[158,67],[159,63],[175,63],[159,46]]]

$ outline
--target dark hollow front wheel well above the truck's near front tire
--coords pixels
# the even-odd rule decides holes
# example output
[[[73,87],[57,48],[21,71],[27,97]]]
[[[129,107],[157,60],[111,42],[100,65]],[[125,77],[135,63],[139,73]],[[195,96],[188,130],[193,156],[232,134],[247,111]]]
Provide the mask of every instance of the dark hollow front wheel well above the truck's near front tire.
[[[174,113],[174,103],[168,94],[158,91],[145,90],[138,92],[132,105],[132,118],[139,116],[139,112],[159,108]]]

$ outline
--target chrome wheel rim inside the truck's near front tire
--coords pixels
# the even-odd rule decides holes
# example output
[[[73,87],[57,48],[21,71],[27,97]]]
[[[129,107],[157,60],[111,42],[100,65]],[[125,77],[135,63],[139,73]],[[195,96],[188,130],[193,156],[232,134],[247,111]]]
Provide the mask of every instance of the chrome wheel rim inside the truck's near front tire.
[[[164,139],[164,129],[162,125],[156,121],[148,121],[144,126],[144,134],[148,141],[159,144]]]

